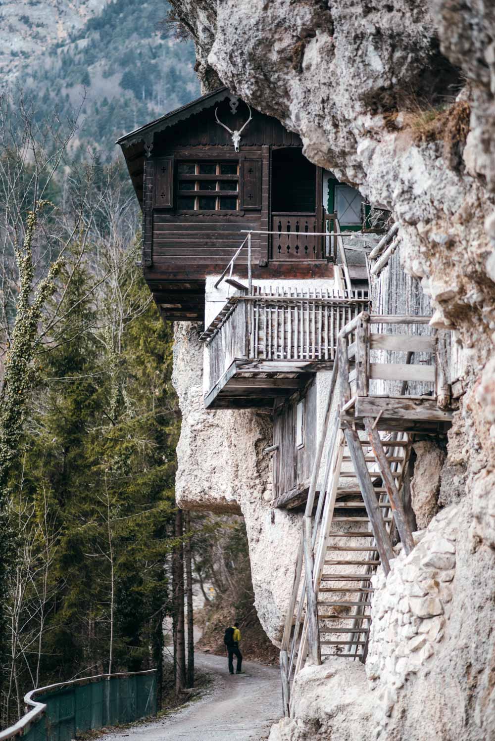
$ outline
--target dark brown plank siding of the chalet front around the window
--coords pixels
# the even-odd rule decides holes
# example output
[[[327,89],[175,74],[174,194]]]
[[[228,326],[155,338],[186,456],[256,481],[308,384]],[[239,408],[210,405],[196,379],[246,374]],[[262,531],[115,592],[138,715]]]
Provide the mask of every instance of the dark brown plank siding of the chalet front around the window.
[[[218,114],[232,130],[239,130],[249,115],[242,102],[233,115],[227,101],[219,104]],[[222,273],[245,239],[246,230],[270,228],[270,152],[280,147],[301,148],[302,142],[279,121],[255,110],[252,121],[242,131],[239,153],[234,150],[230,134],[216,122],[214,107],[155,133],[150,159],[144,165],[143,267],[157,305],[170,319],[201,319],[204,300],[200,294],[206,276]],[[184,162],[239,162],[239,210],[180,210],[179,163]],[[173,170],[160,176],[161,168],[172,163]],[[128,166],[133,176],[142,172],[137,151],[136,161],[128,162]],[[186,180],[187,174],[182,173],[180,182]],[[199,196],[209,195],[197,192]],[[187,193],[181,193],[182,204],[186,196]],[[218,203],[222,203],[221,196]],[[268,234],[253,234],[255,279],[333,275],[332,266],[326,261],[319,265],[303,260],[298,265],[274,265],[269,248]],[[236,274],[247,279],[247,249],[236,261]],[[190,288],[181,298],[179,286],[184,282]]]

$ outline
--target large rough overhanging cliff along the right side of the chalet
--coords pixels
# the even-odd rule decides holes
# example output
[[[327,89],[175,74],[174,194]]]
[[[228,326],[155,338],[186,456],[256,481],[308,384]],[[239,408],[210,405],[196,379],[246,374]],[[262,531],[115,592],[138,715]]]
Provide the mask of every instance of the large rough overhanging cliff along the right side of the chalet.
[[[467,363],[465,393],[440,473],[438,505],[456,504],[444,510],[451,513],[448,524],[442,510],[432,520],[422,550],[411,554],[413,562],[402,565],[397,559],[391,572],[397,575],[377,585],[376,609],[388,605],[383,615],[391,613],[391,625],[373,633],[367,686],[382,702],[374,727],[353,738],[371,732],[391,741],[495,737],[495,634],[489,628],[494,613],[488,594],[495,573],[495,5],[479,0],[177,0],[176,5],[195,36],[205,87],[221,81],[276,116],[302,136],[311,161],[393,211],[403,236],[402,262],[431,296],[433,325],[455,330]],[[438,550],[440,538],[445,551]],[[436,568],[433,561],[442,560],[436,557],[428,565],[431,554],[445,556],[449,564],[454,554],[454,568]],[[408,566],[411,580],[403,577]],[[442,571],[454,576],[446,579]],[[424,588],[425,594],[411,594]],[[413,611],[407,623],[413,628],[402,630],[405,617],[399,614],[408,614],[409,597],[431,599],[430,607],[442,610]],[[407,610],[394,613],[402,599]],[[422,623],[436,618],[434,624]],[[397,668],[401,659],[407,660]],[[324,670],[316,672],[315,682]],[[312,671],[305,669],[301,681],[310,682]],[[309,685],[296,688],[300,720],[283,722],[273,739],[323,738],[337,729],[339,738],[351,737],[335,725],[339,702],[354,686],[351,674],[359,695],[359,669],[331,669],[336,677],[331,698],[323,689],[311,694]],[[305,698],[310,698],[306,704]],[[425,705],[433,725],[425,725]],[[316,718],[311,728],[310,717]]]

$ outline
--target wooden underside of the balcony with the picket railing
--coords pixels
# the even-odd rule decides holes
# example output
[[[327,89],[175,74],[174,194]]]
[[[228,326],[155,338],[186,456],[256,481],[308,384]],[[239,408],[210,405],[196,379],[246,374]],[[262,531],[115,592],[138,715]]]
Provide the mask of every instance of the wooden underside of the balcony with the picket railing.
[[[236,358],[205,396],[207,409],[272,408],[277,396],[305,388],[313,373],[331,370],[331,360]]]

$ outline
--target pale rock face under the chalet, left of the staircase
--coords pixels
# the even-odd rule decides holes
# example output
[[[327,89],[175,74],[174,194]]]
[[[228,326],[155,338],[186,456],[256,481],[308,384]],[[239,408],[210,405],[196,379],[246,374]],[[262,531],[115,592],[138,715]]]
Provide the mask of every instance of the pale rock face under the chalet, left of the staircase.
[[[245,518],[256,611],[278,643],[299,545],[299,517],[270,509],[272,443],[269,414],[207,411],[199,325],[177,324],[173,385],[182,427],[177,446],[176,498],[185,509],[233,512]]]

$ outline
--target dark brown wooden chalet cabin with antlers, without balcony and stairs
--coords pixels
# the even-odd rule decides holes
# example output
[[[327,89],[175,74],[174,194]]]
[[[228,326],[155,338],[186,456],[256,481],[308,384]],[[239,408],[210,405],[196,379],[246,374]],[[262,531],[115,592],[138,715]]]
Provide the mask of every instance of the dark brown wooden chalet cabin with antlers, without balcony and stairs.
[[[246,230],[254,280],[333,278],[333,250],[316,234],[330,196],[342,226],[356,229],[359,193],[325,173],[324,204],[322,168],[277,119],[222,87],[118,144],[143,212],[144,278],[164,319],[204,318],[205,279],[222,273]],[[236,270],[246,273],[246,251]]]

